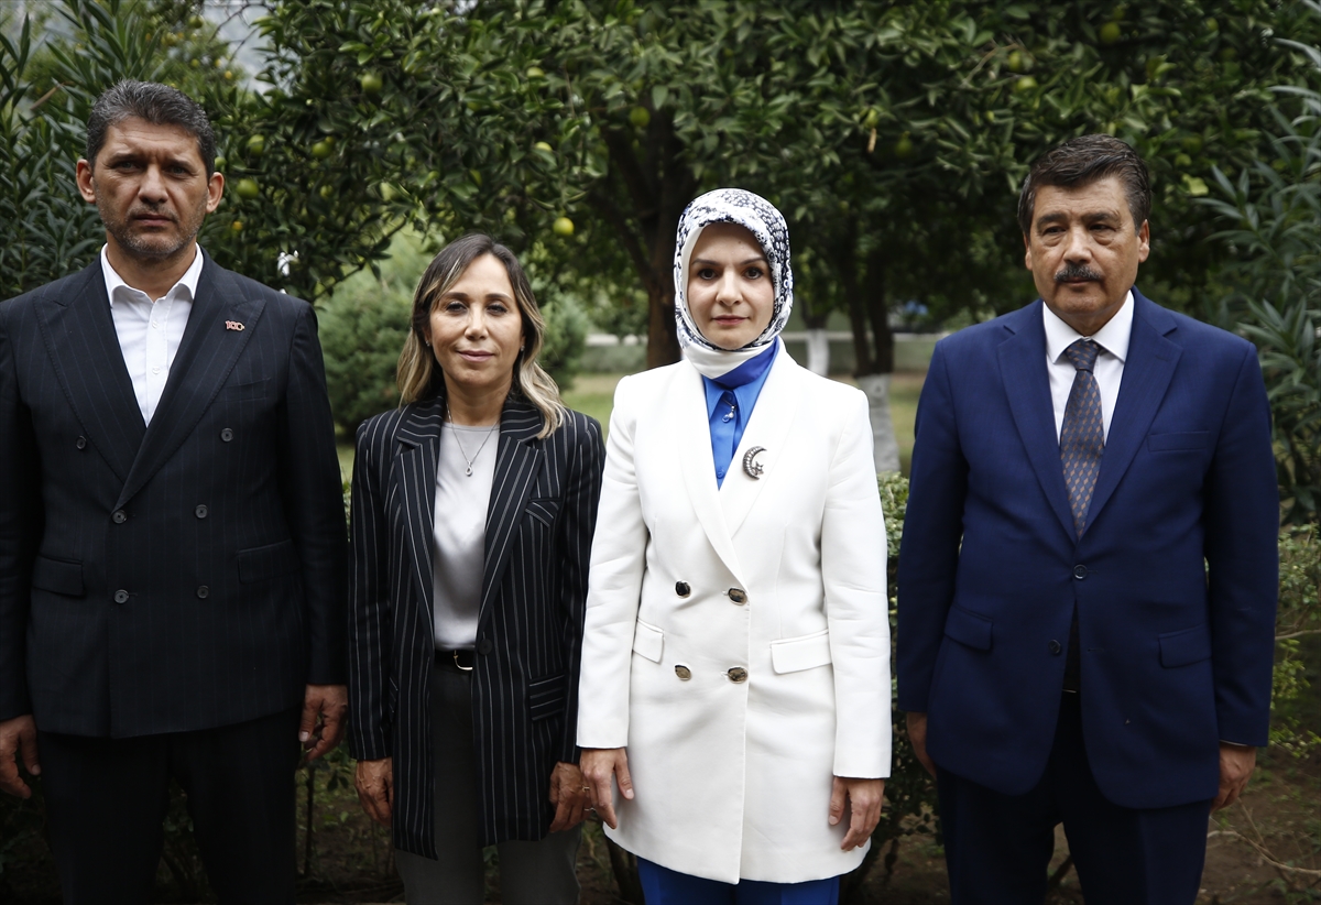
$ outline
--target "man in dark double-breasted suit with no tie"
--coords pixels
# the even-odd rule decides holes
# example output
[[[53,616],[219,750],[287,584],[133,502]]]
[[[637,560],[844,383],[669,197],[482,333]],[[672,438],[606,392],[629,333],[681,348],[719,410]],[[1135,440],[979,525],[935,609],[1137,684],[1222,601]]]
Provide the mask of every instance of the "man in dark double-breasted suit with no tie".
[[[172,778],[221,901],[292,902],[299,740],[342,732],[316,317],[198,247],[223,185],[202,108],[120,82],[102,254],[0,305],[0,789],[40,773],[66,902],[149,900]]]

